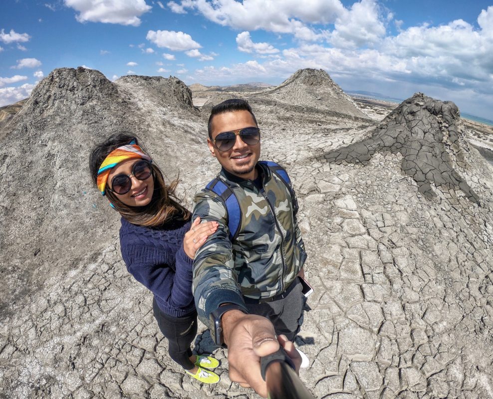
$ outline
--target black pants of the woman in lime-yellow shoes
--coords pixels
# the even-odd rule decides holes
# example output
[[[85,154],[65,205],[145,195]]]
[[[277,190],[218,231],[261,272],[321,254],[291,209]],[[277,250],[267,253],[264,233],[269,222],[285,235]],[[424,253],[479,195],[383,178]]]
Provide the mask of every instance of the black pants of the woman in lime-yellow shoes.
[[[184,317],[173,317],[159,309],[156,299],[152,301],[152,310],[159,329],[168,339],[168,352],[171,359],[185,370],[192,370],[195,365],[190,361],[192,356],[190,344],[197,335],[197,312]]]

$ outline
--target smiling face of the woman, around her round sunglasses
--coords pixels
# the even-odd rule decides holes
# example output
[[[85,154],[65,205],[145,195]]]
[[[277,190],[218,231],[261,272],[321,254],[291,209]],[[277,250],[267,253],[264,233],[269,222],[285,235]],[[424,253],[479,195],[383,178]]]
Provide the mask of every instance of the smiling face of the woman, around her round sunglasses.
[[[122,201],[128,206],[145,206],[151,202],[152,195],[154,193],[154,177],[151,174],[146,180],[139,180],[132,175],[132,168],[141,159],[128,159],[115,166],[109,176],[108,183],[109,188],[113,190],[113,178],[117,175],[123,174],[130,177],[132,187],[128,193],[118,194],[113,193],[118,200]]]

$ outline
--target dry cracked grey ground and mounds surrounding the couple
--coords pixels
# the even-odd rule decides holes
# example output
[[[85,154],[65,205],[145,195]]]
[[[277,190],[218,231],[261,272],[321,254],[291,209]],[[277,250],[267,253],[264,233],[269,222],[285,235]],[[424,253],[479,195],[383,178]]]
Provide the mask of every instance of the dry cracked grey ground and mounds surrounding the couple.
[[[167,173],[180,171],[190,202],[218,170],[205,145],[208,114],[177,82],[126,78],[104,82],[101,94],[96,72],[53,71],[1,127],[2,142],[40,151],[37,141],[52,140],[53,153],[87,159],[84,143],[115,124],[138,130]],[[261,158],[286,167],[300,204],[315,290],[296,338],[310,359],[301,380],[319,399],[493,398],[493,167],[470,144],[454,104],[418,94],[380,122],[322,72],[298,71],[282,96],[242,94],[262,131]],[[78,85],[57,97],[70,79]],[[327,109],[321,89],[335,93],[337,110]],[[80,98],[88,100],[74,103]],[[40,99],[49,106],[36,113]],[[1,175],[15,155],[0,154]],[[65,176],[69,161],[55,158],[61,175],[46,179]],[[80,167],[66,178],[69,186],[84,181],[75,194],[56,185],[43,200],[21,201],[16,222],[0,199],[0,398],[258,398],[229,380],[226,353],[204,326],[194,351],[214,352],[220,383],[191,380],[169,358],[152,296],[121,259],[118,218],[86,174]]]

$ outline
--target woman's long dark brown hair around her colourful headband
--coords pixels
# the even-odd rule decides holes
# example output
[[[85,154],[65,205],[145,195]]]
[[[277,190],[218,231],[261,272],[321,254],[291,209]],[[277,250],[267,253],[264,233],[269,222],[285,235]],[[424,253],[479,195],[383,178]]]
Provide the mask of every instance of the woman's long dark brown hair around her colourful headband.
[[[149,154],[139,143],[135,135],[129,133],[116,133],[108,137],[101,144],[96,145],[91,151],[89,158],[89,168],[91,178],[97,187],[97,173],[104,159],[114,149],[130,144],[135,140],[142,150]],[[166,185],[161,169],[153,162],[151,164],[154,179],[154,193],[151,202],[145,206],[129,206],[118,200],[118,196],[111,191],[106,191],[106,197],[113,204],[114,208],[132,224],[146,227],[158,227],[173,218],[188,220],[190,211],[180,204],[176,197],[175,190],[178,185],[178,178]]]

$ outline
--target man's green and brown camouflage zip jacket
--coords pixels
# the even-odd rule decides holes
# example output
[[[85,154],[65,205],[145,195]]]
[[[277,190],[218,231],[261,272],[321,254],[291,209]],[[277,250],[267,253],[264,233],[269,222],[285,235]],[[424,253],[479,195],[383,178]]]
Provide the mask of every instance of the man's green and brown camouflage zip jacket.
[[[257,163],[263,190],[224,169],[218,179],[235,192],[242,210],[239,232],[229,238],[225,203],[210,190],[195,196],[193,219],[216,220],[219,227],[199,248],[193,268],[193,292],[201,321],[222,303],[245,307],[243,296],[266,298],[284,292],[306,259],[293,212],[295,198],[272,171]]]

